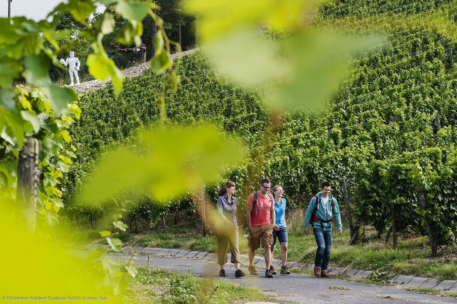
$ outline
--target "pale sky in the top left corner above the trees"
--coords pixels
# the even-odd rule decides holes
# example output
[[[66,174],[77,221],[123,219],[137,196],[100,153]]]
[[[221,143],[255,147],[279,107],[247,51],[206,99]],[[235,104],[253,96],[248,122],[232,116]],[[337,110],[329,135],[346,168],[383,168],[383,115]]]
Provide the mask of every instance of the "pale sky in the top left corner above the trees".
[[[26,16],[35,21],[43,20],[48,13],[60,2],[66,0],[12,0],[11,17]],[[103,5],[97,6],[97,11],[104,10]],[[8,16],[8,1],[0,0],[0,17]]]

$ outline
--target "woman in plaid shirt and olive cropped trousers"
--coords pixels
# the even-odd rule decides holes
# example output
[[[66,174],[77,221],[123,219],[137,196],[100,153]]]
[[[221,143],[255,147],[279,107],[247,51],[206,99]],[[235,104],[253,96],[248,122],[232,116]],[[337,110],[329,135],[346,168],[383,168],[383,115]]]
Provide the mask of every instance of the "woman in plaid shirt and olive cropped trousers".
[[[219,199],[216,204],[219,215],[218,226],[218,264],[221,267],[219,277],[225,277],[224,265],[227,263],[227,242],[230,243],[230,262],[235,264],[235,278],[244,277],[244,272],[239,269],[238,224],[236,211],[238,199],[233,196],[235,183],[228,181],[219,189]]]

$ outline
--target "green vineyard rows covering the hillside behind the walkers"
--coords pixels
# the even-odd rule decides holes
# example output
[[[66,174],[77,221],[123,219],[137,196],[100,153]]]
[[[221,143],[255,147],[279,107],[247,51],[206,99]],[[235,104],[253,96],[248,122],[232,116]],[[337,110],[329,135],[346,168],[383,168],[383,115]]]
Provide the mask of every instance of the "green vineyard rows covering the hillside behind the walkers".
[[[316,22],[328,24],[335,18],[344,23],[345,16],[429,10],[454,18],[448,12],[455,4],[447,1],[375,3],[329,4],[319,10]],[[456,40],[432,26],[383,31],[388,37],[383,50],[353,59],[355,72],[320,110],[288,112],[275,126],[259,89],[229,84],[197,52],[183,58],[178,68],[182,82],[176,92],[166,95],[167,117],[170,123],[211,121],[244,139],[251,160],[226,172],[237,183],[241,199],[255,189],[253,181],[268,176],[272,183],[284,186],[292,207],[306,206],[320,182],[327,179],[342,201],[340,180],[345,177],[353,216],[375,226],[378,233],[388,229],[393,211],[398,231],[427,235],[428,222],[434,246],[454,244],[457,73],[450,51],[455,50]],[[119,143],[133,144],[130,136],[138,128],[158,121],[155,96],[163,90],[164,81],[164,76],[148,72],[128,79],[117,98],[111,87],[81,98],[81,118],[70,128],[78,143],[77,158],[64,183],[65,212],[70,217],[86,212],[92,219],[104,212],[102,207],[86,210],[74,203],[68,189],[82,185],[100,152]],[[213,203],[219,186],[207,186]],[[194,216],[198,203],[190,194],[162,208],[154,208],[149,197],[140,202],[127,218],[135,223],[142,218],[151,226],[171,211]]]

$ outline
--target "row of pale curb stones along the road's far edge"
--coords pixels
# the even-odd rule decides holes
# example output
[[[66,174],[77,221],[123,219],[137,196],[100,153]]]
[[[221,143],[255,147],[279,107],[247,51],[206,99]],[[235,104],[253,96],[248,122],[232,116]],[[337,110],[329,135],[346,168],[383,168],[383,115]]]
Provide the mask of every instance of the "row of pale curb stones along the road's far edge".
[[[90,244],[86,245],[85,248],[87,249],[97,249],[99,247],[109,248],[108,245],[99,245],[99,244]],[[173,257],[182,257],[182,258],[193,258],[193,259],[202,259],[207,261],[217,261],[218,255],[213,252],[197,252],[197,251],[188,251],[188,250],[180,250],[180,249],[167,249],[167,248],[152,248],[152,247],[123,247],[123,249],[128,251],[133,251],[137,253],[146,253],[152,254],[155,256],[173,256]],[[133,249],[133,250],[132,250]],[[229,255],[228,255],[229,257]],[[254,264],[259,263],[259,267],[261,266],[261,261],[263,261],[263,257],[255,257]],[[247,266],[249,257],[242,255],[240,256],[241,265]],[[282,262],[279,259],[273,259],[273,263],[279,263],[281,266]],[[278,266],[278,267],[279,267]],[[273,267],[275,267],[273,265]],[[302,263],[298,261],[291,261],[289,262],[290,268],[295,269],[314,269],[314,264]],[[340,276],[349,276],[352,278],[369,278],[372,275],[371,270],[361,270],[361,269],[352,269],[349,267],[335,267],[330,266],[329,272],[332,274],[337,274]],[[421,278],[421,277],[413,277],[413,276],[405,276],[405,275],[397,275],[393,277],[389,282],[398,283],[400,285],[404,285],[406,287],[411,288],[431,288],[435,290],[445,290],[450,293],[457,293],[457,281],[452,280],[442,280],[439,281],[437,279],[429,279],[429,278]]]

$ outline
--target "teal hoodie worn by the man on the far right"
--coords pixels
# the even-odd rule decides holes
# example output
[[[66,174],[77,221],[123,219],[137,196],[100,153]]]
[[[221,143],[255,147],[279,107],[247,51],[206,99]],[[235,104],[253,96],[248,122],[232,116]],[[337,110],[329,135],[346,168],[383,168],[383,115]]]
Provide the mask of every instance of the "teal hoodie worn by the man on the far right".
[[[327,203],[327,209],[330,209],[330,201],[333,199],[333,210],[329,210],[329,213],[325,215],[325,210],[324,210],[324,204],[322,202],[322,197],[321,197],[322,192],[319,192],[316,194],[317,197],[320,199],[320,203],[318,205],[318,210],[316,210],[316,213],[314,215],[318,216],[319,219],[322,220],[330,220],[332,218],[332,214],[335,216],[335,222],[336,226],[338,229],[342,229],[343,225],[341,225],[341,215],[340,215],[340,208],[338,207],[338,202],[336,199],[332,196],[332,194],[329,194],[329,202]],[[314,205],[316,204],[316,197],[313,197],[309,201],[308,205],[308,210],[306,210],[306,215],[305,215],[305,228],[308,228],[309,225],[309,220],[311,220],[311,215],[313,215],[314,211]],[[313,222],[313,228],[321,228],[321,222]],[[332,223],[322,223],[323,229],[324,230],[332,230]]]

